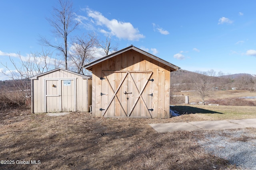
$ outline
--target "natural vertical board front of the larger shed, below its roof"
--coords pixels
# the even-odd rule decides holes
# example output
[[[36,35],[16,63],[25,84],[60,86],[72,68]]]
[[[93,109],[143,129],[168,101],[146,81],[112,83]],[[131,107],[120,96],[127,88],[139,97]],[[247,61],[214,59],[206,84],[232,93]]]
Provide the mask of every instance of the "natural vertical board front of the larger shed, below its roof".
[[[104,71],[113,71],[113,72],[104,72]],[[115,72],[116,71],[116,72]],[[119,71],[119,72],[118,72]],[[150,79],[154,81],[148,81],[147,86],[144,89],[144,92],[141,94],[142,98],[146,101],[147,107],[152,107],[153,111],[150,111],[150,114],[153,118],[168,118],[169,117],[169,106],[170,106],[170,67],[162,64],[154,59],[151,59],[137,51],[129,50],[119,55],[116,55],[106,61],[95,64],[92,67],[92,116],[93,117],[102,117],[104,111],[100,109],[106,108],[114,95],[111,87],[115,88],[114,91],[118,88],[118,84],[124,79],[125,72],[120,71],[131,71],[129,76],[126,78],[128,81],[124,81],[120,87],[120,91],[116,93],[118,99],[124,98],[122,95],[122,88],[129,86],[128,94],[129,100],[127,104],[124,100],[121,100],[121,105],[124,110],[129,110],[129,107],[132,107],[134,102],[139,96],[139,91],[142,90],[148,74],[137,74],[132,71],[148,71],[153,72]],[[110,82],[106,80],[100,80],[101,77],[110,78]],[[132,77],[132,78],[131,78]],[[138,87],[132,84],[134,82]],[[100,95],[101,92],[107,92],[108,95]],[[149,96],[152,92],[153,96]],[[122,117],[124,111],[120,107],[120,103],[115,99],[112,101],[108,110],[106,111],[104,117]],[[138,104],[134,107],[134,110],[131,112],[131,115],[134,117],[145,117],[148,116],[148,113],[145,112],[143,100],[139,99]],[[128,107],[128,108],[127,108]]]

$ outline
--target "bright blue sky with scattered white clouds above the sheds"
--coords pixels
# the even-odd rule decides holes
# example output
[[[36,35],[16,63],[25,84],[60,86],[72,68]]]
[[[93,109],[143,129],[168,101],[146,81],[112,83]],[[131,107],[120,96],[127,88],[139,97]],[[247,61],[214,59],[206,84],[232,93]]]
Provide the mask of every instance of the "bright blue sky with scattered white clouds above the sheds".
[[[1,0],[0,62],[15,70],[42,51],[39,35],[54,39],[46,17],[57,0]],[[81,23],[73,35],[111,35],[118,49],[134,45],[189,71],[256,74],[255,0],[74,0]],[[0,64],[0,70],[8,70]],[[0,80],[8,77],[0,73]]]

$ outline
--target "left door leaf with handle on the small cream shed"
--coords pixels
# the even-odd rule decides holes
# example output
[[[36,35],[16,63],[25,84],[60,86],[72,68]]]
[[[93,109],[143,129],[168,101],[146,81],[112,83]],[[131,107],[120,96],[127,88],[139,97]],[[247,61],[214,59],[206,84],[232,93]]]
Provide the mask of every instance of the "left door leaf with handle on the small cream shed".
[[[60,111],[60,86],[59,80],[46,80],[45,82],[46,112]]]

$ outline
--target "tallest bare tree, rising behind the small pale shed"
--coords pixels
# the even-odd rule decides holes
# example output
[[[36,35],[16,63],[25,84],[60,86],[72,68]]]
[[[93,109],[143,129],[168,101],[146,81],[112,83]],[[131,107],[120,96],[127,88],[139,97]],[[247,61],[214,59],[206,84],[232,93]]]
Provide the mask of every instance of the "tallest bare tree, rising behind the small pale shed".
[[[53,8],[52,18],[47,20],[52,26],[52,33],[63,41],[51,43],[45,37],[40,37],[39,40],[42,45],[53,47],[64,55],[66,69],[68,69],[68,35],[78,26],[78,22],[74,19],[72,3],[69,0],[59,0],[59,6]]]

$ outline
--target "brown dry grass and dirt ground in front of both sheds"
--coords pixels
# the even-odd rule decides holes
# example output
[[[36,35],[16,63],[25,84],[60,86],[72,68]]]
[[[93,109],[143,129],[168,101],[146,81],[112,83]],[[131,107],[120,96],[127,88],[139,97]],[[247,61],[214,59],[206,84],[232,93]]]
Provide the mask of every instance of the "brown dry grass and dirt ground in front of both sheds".
[[[31,114],[29,109],[0,111],[0,160],[8,163],[1,162],[0,169],[235,169],[226,160],[206,154],[196,140],[202,137],[201,131],[156,133],[148,125],[161,122],[174,119],[92,118],[85,112],[50,117]]]

